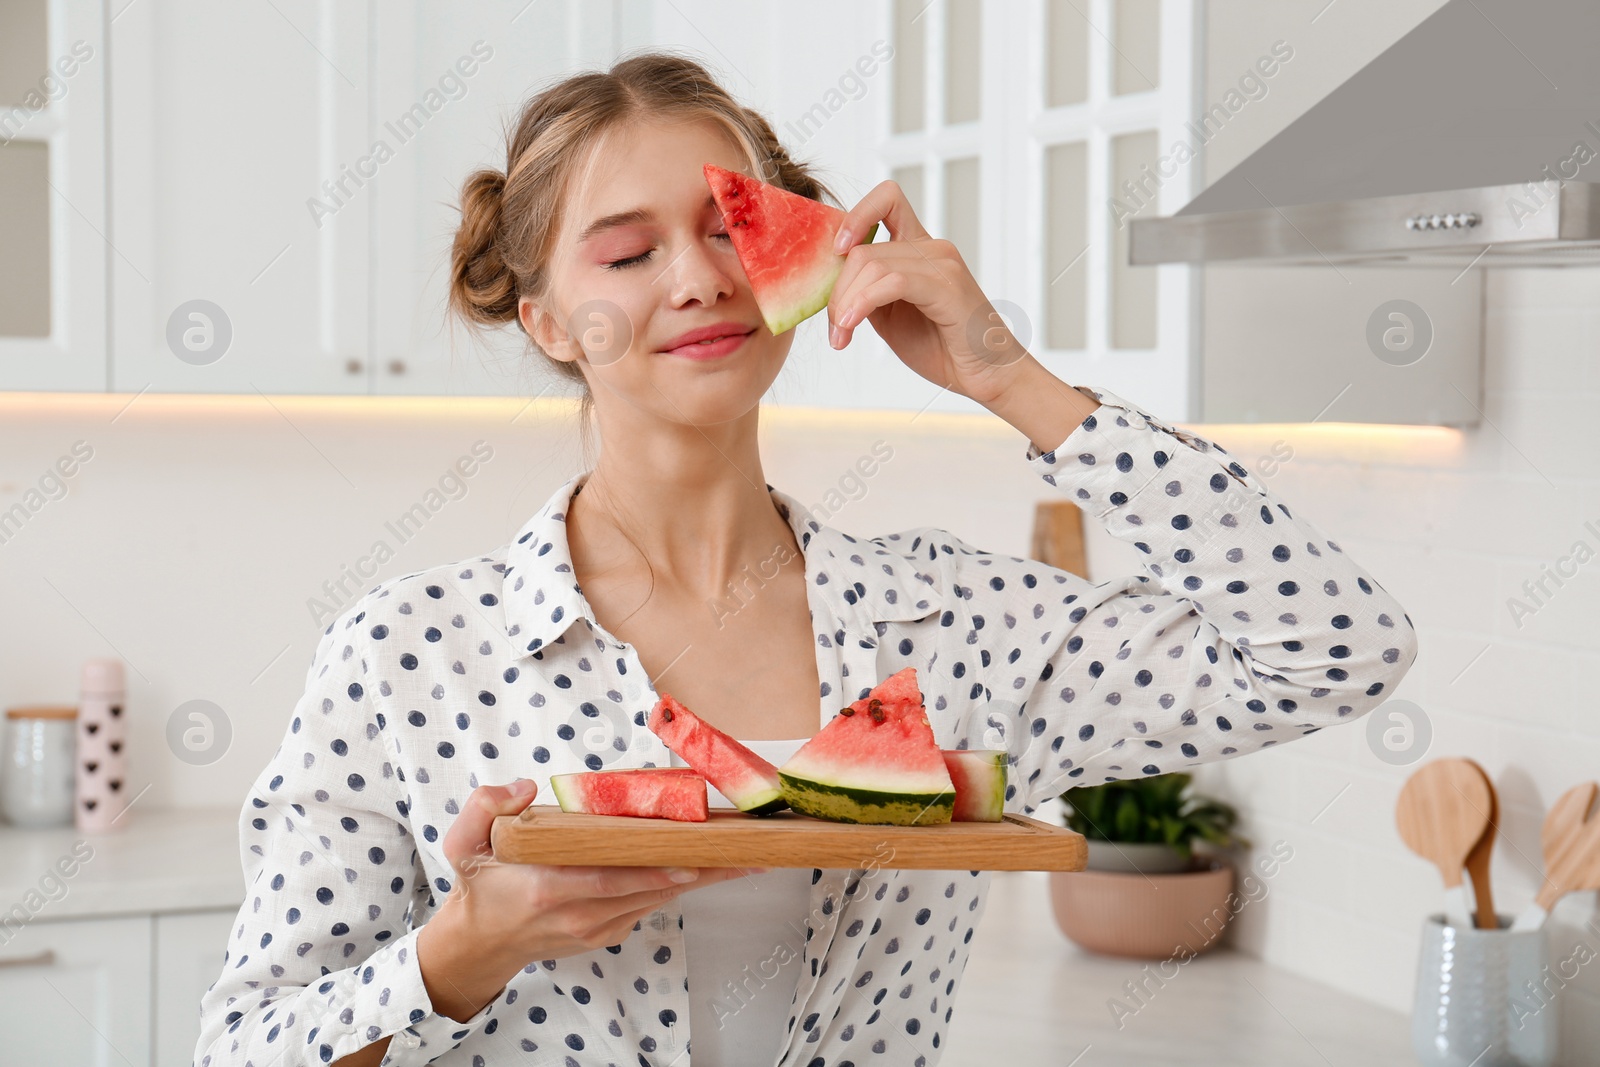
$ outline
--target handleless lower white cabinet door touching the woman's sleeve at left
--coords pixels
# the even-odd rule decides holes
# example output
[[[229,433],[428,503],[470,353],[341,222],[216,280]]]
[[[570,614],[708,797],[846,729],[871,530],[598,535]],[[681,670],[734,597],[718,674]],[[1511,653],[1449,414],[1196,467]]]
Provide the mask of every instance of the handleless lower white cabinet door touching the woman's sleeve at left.
[[[155,1062],[187,1064],[200,1040],[200,998],[222,974],[238,909],[155,917]]]

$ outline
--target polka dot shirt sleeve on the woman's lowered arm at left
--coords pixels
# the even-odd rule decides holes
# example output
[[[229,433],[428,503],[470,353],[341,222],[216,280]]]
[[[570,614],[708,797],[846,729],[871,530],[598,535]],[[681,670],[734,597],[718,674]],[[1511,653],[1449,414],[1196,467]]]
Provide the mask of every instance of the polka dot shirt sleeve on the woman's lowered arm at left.
[[[437,1014],[418,969],[426,873],[366,694],[363,606],[318,641],[240,813],[246,899],[200,1001],[198,1067],[328,1064],[386,1035],[384,1064],[427,1064],[493,1016],[494,1001],[466,1022]]]

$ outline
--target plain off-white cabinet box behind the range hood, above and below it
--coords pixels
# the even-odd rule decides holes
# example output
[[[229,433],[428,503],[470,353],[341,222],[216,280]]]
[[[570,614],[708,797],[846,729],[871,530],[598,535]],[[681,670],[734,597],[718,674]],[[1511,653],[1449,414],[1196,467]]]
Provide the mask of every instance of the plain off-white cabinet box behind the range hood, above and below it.
[[[1237,101],[1240,78],[1272,53],[1274,43],[1280,56],[1291,56],[1269,64],[1275,74],[1258,78],[1258,94],[1206,144],[1206,182],[1442,3],[1330,10],[1315,26],[1310,21],[1326,10],[1320,0],[1208,3],[1202,37],[1206,106],[1224,101],[1229,91]],[[1219,262],[1200,272],[1195,421],[1472,426],[1480,419],[1483,269]],[[1382,341],[1374,342],[1370,331]],[[1379,347],[1392,355],[1381,358]]]

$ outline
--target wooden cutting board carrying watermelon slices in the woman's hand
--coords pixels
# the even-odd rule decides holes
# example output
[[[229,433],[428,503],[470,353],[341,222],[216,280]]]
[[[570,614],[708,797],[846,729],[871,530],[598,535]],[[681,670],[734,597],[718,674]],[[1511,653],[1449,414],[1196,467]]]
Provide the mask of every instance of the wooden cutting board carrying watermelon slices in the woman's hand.
[[[528,805],[490,830],[506,864],[598,867],[890,867],[898,870],[1083,870],[1082,833],[1019,814],[1003,822],[853,825],[794,811],[714,808],[706,822],[574,814]]]

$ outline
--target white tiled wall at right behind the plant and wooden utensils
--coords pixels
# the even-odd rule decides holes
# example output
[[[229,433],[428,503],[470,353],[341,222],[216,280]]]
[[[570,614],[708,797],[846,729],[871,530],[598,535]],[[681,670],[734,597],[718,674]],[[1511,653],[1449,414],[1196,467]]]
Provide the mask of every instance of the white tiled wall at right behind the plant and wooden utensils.
[[[1475,758],[1496,782],[1504,838],[1491,873],[1498,910],[1509,913],[1538,891],[1549,805],[1600,779],[1600,537],[1584,530],[1584,522],[1600,528],[1600,470],[1587,442],[1600,418],[1597,339],[1600,272],[1496,272],[1488,280],[1486,419],[1459,442],[1419,437],[1408,458],[1379,432],[1314,440],[1301,427],[1208,427],[1246,454],[1293,435],[1294,461],[1274,488],[1406,605],[1421,651],[1395,696],[1429,715],[1427,758]],[[1520,597],[1522,582],[1578,539],[1597,558],[1560,589],[1550,582],[1544,605],[1518,627],[1507,597]],[[1320,744],[1326,734],[1347,744]],[[1293,840],[1294,864],[1314,857],[1290,864],[1275,896],[1242,913],[1242,947],[1357,997],[1410,1008],[1422,917],[1440,905],[1438,875],[1394,827],[1398,787],[1414,766],[1376,760],[1357,725],[1202,768],[1200,782],[1240,803],[1258,837]],[[1336,792],[1341,776],[1355,785],[1307,827],[1307,806]],[[1347,869],[1330,873],[1330,864]],[[1600,934],[1581,929],[1594,910],[1592,893],[1557,909],[1568,921],[1557,933],[1552,920],[1552,961],[1581,936],[1600,953]],[[1597,976],[1600,960],[1563,990],[1562,1064],[1600,1064]]]

